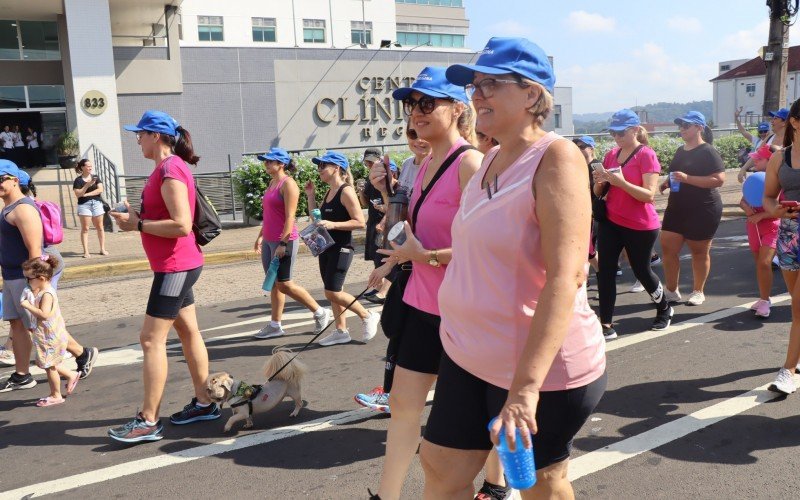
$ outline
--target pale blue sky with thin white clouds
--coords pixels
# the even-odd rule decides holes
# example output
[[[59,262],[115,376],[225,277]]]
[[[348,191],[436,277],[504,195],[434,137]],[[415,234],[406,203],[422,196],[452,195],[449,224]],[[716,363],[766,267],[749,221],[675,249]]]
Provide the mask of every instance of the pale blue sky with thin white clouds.
[[[764,0],[465,0],[467,46],[523,36],[553,57],[572,112],[712,99],[720,61],[767,44]],[[800,45],[800,24],[789,32]]]

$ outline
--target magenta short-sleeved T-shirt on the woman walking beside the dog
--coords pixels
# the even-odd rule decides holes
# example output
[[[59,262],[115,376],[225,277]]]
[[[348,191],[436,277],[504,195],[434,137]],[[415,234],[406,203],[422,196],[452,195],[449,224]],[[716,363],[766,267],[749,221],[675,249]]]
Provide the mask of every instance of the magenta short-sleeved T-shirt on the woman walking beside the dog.
[[[161,197],[161,184],[164,179],[176,179],[189,190],[189,209],[194,220],[195,188],[194,177],[179,156],[165,158],[145,182],[142,189],[142,210],[139,216],[146,220],[169,219],[169,211]],[[188,271],[203,265],[203,252],[194,238],[194,233],[180,238],[162,238],[154,234],[142,233],[142,247],[150,261],[150,269],[160,273]]]

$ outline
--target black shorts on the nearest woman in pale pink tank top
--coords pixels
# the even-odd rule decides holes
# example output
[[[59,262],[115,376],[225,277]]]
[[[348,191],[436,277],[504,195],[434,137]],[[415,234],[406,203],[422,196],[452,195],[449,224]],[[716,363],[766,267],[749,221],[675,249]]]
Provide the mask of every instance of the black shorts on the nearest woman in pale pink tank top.
[[[536,469],[569,458],[572,439],[592,414],[606,390],[606,374],[583,387],[539,393],[533,436]],[[459,450],[490,450],[487,426],[496,417],[508,391],[475,377],[442,354],[425,439]]]

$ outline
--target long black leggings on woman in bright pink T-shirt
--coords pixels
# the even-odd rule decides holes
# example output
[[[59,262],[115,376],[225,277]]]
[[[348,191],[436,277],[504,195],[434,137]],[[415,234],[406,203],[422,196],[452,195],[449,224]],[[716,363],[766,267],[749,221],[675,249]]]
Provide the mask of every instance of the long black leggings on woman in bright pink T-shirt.
[[[597,253],[600,272],[597,273],[597,290],[600,293],[600,322],[611,324],[614,317],[614,304],[617,301],[617,262],[624,248],[633,275],[642,284],[659,310],[669,307],[661,281],[650,268],[650,256],[658,238],[658,229],[637,231],[601,221],[597,235]]]

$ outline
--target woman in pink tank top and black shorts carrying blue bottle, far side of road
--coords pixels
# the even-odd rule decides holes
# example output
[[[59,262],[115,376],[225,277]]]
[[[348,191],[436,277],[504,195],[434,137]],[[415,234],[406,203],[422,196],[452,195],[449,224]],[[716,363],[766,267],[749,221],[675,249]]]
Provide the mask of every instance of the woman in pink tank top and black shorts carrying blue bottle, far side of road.
[[[297,182],[287,172],[295,171],[295,164],[285,149],[271,148],[258,159],[264,162],[264,170],[270,176],[269,186],[261,199],[263,222],[254,245],[256,253],[261,254],[264,272],[269,270],[272,259],[278,258],[278,277],[270,292],[272,318],[264,328],[255,334],[257,339],[280,337],[286,332],[281,327],[286,295],[303,304],[314,313],[314,334],[317,334],[333,320],[330,309],[320,307],[305,288],[292,281],[292,269],[299,249],[295,213],[300,199]]]

